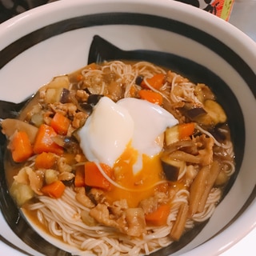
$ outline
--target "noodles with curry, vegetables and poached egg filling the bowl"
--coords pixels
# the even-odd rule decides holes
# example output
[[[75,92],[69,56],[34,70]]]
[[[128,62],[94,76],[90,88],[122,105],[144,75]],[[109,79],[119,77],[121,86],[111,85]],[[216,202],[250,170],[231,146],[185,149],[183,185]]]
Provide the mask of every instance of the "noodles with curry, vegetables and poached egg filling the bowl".
[[[205,222],[234,174],[210,87],[150,62],[91,63],[38,90],[9,138],[26,217],[78,250],[150,254]]]

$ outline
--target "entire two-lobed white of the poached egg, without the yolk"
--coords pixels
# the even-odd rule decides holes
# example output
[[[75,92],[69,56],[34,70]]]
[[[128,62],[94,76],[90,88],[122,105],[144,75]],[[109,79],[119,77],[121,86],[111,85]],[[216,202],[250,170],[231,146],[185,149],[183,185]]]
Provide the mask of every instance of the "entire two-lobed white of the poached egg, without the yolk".
[[[142,156],[154,157],[162,150],[162,134],[178,120],[157,104],[138,98],[123,98],[117,103],[102,97],[86,124],[78,131],[86,158],[111,167],[131,142],[138,152],[134,174],[143,168]]]

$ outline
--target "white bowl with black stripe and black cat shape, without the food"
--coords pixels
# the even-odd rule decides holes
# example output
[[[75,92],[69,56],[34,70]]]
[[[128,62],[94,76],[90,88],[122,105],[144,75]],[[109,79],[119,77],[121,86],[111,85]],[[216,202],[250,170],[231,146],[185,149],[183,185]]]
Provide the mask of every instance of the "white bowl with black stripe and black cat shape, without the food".
[[[206,82],[225,107],[237,155],[236,178],[202,231],[172,255],[221,254],[256,225],[255,43],[221,18],[180,2],[62,0],[0,25],[0,98],[20,102],[54,76],[85,66],[94,35],[122,50],[166,53],[174,70]],[[30,246],[33,231],[22,219],[17,222],[10,228],[0,215],[8,246],[16,254],[43,254],[48,243]],[[51,252],[68,255],[54,246]],[[161,251],[168,254],[168,248]]]

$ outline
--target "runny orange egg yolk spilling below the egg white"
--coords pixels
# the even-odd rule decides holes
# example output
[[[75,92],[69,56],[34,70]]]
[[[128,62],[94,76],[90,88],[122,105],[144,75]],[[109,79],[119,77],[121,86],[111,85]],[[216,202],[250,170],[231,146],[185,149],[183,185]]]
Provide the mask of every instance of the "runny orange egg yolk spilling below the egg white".
[[[134,173],[134,164],[138,161],[138,150],[130,144],[114,163],[114,182],[122,186],[113,186],[106,192],[108,202],[126,199],[128,206],[137,207],[138,203],[154,194],[155,185],[162,181],[162,165],[159,154],[149,157],[142,154],[142,170]]]

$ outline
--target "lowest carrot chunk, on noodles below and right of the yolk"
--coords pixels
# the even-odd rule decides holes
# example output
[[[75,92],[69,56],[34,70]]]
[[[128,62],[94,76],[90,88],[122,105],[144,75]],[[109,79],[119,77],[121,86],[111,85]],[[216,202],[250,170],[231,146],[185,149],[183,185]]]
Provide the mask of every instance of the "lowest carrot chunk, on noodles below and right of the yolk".
[[[161,205],[157,210],[145,215],[146,222],[153,226],[166,225],[167,218],[170,214],[170,205]]]

